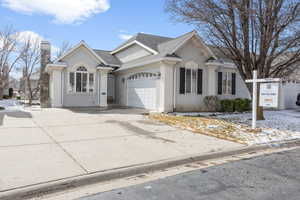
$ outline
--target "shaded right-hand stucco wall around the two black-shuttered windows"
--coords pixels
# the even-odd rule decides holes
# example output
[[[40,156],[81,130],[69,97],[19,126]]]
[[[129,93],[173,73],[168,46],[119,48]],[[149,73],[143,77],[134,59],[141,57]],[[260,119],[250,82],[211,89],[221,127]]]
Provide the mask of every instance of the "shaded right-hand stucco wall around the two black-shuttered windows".
[[[176,74],[176,111],[205,111],[204,98],[208,95],[217,95],[217,72],[235,72],[236,76],[236,95],[218,95],[220,99],[233,99],[233,98],[250,98],[250,94],[246,87],[246,84],[241,79],[240,74],[236,69],[217,67],[206,65],[206,61],[211,57],[205,50],[201,48],[199,44],[195,44],[195,41],[188,41],[182,48],[177,50],[183,61],[175,65]],[[180,94],[180,73],[179,68],[194,63],[195,67],[203,70],[203,91],[202,94]],[[211,69],[213,68],[213,69]],[[213,82],[212,82],[213,81]],[[212,90],[214,87],[214,90]],[[212,94],[214,93],[214,94]]]

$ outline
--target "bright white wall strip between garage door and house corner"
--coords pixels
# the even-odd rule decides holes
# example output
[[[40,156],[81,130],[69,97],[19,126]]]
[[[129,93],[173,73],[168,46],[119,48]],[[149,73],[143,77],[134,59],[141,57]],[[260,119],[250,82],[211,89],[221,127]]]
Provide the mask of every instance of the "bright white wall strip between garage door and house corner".
[[[160,66],[160,103],[159,112],[173,112],[174,80],[173,62],[161,62]]]

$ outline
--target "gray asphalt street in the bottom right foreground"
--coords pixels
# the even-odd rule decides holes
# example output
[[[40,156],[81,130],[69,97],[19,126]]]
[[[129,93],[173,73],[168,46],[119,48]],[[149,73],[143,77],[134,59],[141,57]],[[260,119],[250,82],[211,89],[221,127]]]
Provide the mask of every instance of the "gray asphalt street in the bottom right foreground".
[[[263,155],[81,200],[299,200],[300,148]]]

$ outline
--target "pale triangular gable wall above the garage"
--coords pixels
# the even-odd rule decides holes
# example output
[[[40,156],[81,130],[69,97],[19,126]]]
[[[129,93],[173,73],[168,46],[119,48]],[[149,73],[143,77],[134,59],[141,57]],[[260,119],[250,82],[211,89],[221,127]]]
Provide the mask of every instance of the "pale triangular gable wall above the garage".
[[[115,54],[115,56],[123,63],[149,55],[151,55],[149,51],[137,44],[134,44]]]

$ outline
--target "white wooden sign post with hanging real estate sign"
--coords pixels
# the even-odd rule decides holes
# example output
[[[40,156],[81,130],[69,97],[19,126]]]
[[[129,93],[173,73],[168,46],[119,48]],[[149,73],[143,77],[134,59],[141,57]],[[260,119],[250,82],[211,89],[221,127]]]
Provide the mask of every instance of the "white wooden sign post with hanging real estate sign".
[[[257,115],[257,84],[264,83],[260,89],[259,105],[262,107],[278,107],[278,93],[280,78],[258,79],[257,70],[253,71],[253,79],[246,80],[246,83],[253,83],[252,94],[252,129],[256,129]],[[273,82],[273,83],[272,83]],[[274,83],[275,82],[275,83]],[[277,83],[276,83],[277,82]]]

